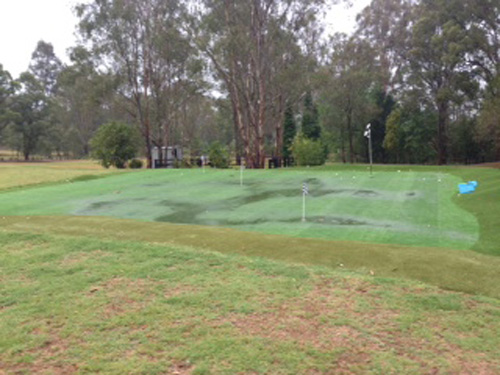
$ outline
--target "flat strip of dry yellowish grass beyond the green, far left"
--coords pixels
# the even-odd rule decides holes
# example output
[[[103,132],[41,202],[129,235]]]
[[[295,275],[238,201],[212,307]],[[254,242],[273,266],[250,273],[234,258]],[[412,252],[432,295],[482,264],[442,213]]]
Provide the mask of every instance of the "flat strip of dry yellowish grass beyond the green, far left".
[[[119,172],[121,171],[116,169],[104,169],[92,161],[0,163],[0,190],[69,180],[85,180]]]

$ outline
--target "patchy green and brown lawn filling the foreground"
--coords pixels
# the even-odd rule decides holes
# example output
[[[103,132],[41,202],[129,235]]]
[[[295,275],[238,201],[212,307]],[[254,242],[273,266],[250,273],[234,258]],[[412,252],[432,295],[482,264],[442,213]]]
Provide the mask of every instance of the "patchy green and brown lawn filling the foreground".
[[[0,232],[3,374],[497,374],[500,304],[160,244]]]

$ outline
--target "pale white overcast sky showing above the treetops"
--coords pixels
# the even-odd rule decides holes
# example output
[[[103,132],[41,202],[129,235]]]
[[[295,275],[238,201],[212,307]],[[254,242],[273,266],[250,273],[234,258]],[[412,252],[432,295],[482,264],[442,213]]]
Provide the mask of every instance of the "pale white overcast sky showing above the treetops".
[[[68,62],[66,50],[75,45],[75,4],[81,0],[0,0],[0,64],[16,78],[28,69],[39,40],[52,43],[57,56]],[[353,7],[333,7],[328,29],[351,32],[356,14],[370,0],[353,0]]]

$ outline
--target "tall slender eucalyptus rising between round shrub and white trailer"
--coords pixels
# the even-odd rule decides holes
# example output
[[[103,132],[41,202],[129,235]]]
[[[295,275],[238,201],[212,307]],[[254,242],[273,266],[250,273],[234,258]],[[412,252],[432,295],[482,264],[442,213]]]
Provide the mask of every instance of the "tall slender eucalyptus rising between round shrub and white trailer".
[[[77,7],[80,33],[99,66],[121,78],[119,93],[152,148],[170,142],[177,108],[198,90],[202,66],[185,32],[185,2],[94,0]]]

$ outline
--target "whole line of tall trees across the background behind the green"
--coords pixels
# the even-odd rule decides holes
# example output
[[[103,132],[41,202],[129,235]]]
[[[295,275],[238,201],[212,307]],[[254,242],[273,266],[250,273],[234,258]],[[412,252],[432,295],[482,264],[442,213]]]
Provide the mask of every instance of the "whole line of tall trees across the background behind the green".
[[[293,150],[378,163],[500,160],[500,3],[372,0],[325,37],[324,0],[94,0],[63,64],[40,41],[0,65],[0,145],[80,158],[107,123],[152,150],[215,144],[261,168]],[[304,155],[301,156],[304,157]],[[321,157],[324,155],[324,157]]]

